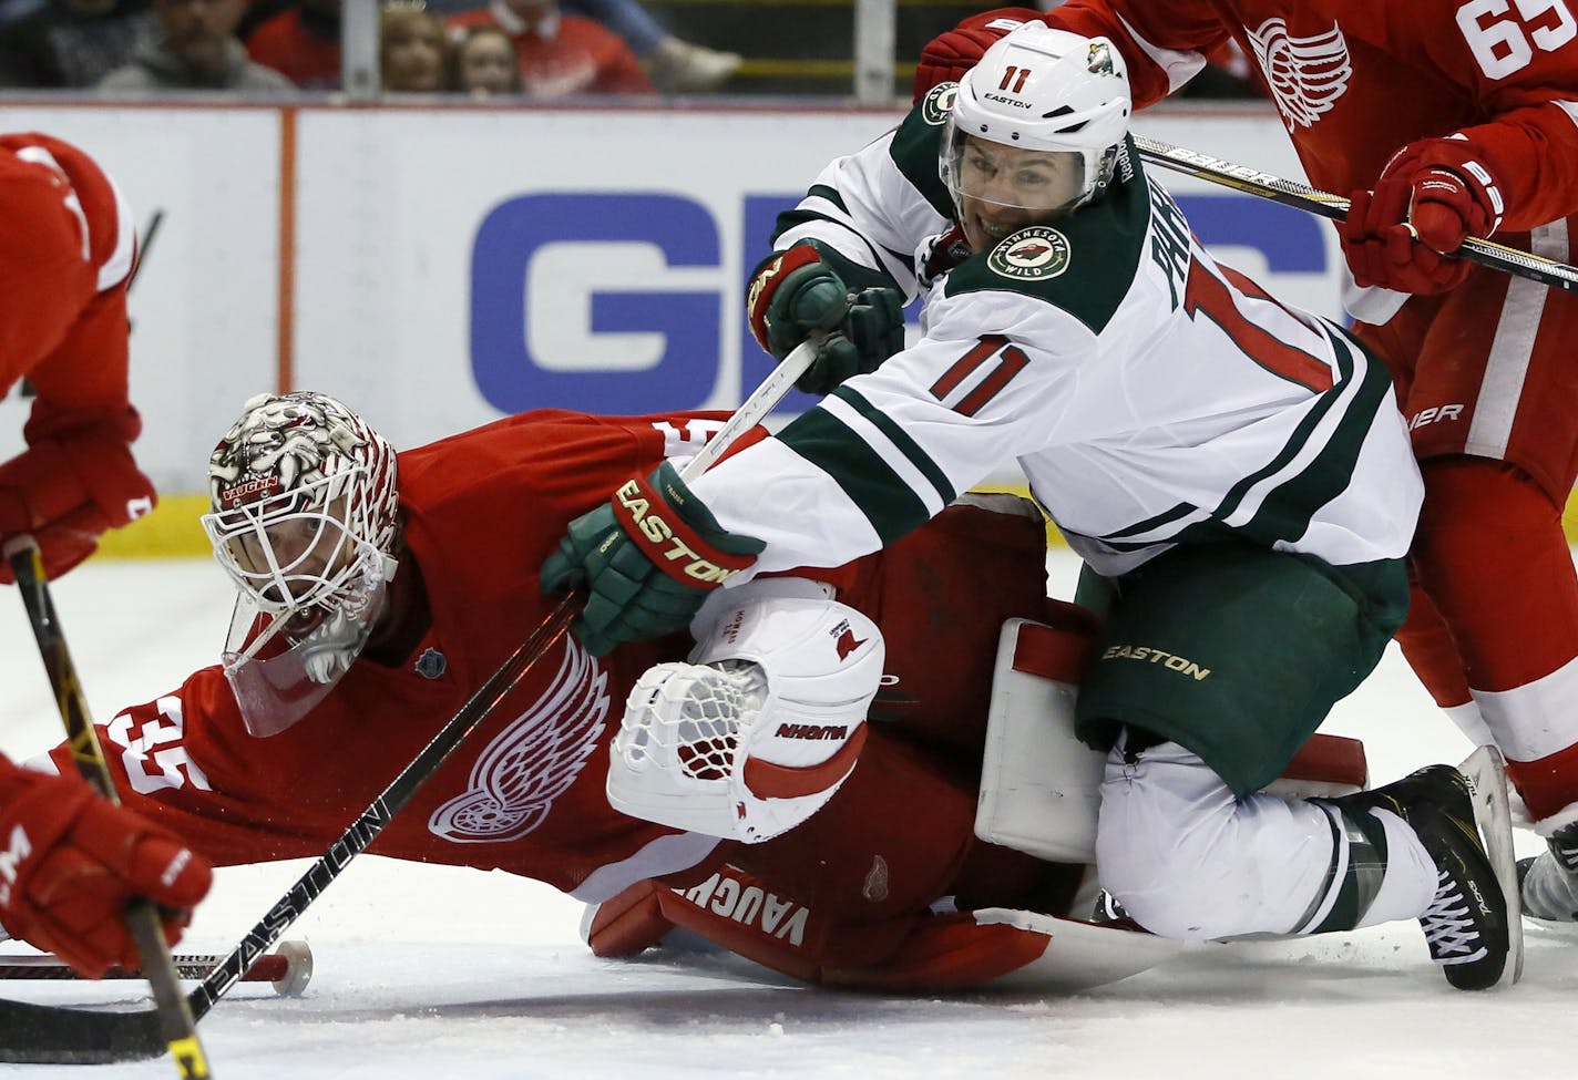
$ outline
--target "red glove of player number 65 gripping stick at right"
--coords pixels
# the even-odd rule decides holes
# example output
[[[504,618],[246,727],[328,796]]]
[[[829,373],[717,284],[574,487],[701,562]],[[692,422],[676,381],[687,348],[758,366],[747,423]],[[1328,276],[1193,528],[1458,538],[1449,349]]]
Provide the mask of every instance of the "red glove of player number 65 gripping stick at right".
[[[1428,295],[1463,284],[1472,263],[1447,255],[1496,232],[1502,213],[1474,142],[1425,139],[1392,156],[1373,192],[1354,192],[1338,233],[1356,284]]]

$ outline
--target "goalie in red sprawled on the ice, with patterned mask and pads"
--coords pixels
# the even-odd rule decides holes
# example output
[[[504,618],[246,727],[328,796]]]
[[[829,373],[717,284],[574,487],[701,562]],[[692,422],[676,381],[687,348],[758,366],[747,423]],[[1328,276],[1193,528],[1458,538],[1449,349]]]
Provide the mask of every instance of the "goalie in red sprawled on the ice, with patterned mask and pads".
[[[537,568],[567,522],[720,421],[541,410],[396,454],[327,394],[248,402],[205,517],[232,637],[98,724],[125,806],[216,866],[320,856],[557,604]],[[1090,618],[1046,598],[1026,500],[723,590],[691,629],[565,635],[369,851],[546,881],[595,907],[601,955],[683,927],[827,985],[1051,990],[1172,955],[1081,918],[1098,763],[1059,721]]]

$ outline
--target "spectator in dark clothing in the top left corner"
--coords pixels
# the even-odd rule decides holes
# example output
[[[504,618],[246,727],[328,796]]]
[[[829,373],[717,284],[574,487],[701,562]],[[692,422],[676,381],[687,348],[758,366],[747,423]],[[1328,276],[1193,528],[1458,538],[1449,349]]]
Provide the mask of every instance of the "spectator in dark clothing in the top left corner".
[[[50,0],[0,28],[0,87],[92,87],[156,36],[153,0]]]

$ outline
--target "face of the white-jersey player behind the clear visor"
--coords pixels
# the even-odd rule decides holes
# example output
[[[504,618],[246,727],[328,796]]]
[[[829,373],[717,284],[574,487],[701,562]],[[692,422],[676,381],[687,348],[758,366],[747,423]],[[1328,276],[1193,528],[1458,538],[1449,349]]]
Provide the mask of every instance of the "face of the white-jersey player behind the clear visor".
[[[959,151],[959,225],[975,251],[1056,218],[1079,192],[1079,158],[967,137]]]

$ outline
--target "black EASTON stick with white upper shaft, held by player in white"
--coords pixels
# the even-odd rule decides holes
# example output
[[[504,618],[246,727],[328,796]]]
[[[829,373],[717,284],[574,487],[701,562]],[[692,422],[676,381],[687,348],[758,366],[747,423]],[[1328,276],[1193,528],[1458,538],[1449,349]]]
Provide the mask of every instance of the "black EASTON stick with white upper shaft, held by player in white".
[[[817,339],[802,342],[762,380],[707,445],[680,468],[682,479],[694,479],[746,430],[759,424],[816,359]],[[21,582],[21,575],[17,577]],[[417,790],[510,695],[525,672],[557,642],[574,618],[581,596],[568,593],[554,610],[516,646],[488,681],[439,728],[421,752],[401,769],[382,795],[350,823],[290,889],[275,902],[246,937],[213,966],[185,998],[193,1020],[200,1020],[241,974],[301,918],[335,878],[344,873],[383,831]],[[92,728],[90,728],[92,730]],[[159,1012],[104,1012],[69,1006],[44,1006],[0,1000],[0,1063],[16,1064],[109,1064],[158,1056],[164,1048]]]

